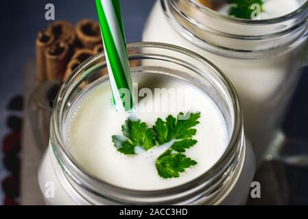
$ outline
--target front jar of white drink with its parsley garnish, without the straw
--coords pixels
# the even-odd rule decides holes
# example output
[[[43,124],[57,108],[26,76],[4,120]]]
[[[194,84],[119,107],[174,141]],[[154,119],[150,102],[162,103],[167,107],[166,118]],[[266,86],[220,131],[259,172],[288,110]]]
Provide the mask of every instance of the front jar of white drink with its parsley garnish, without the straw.
[[[179,47],[139,43],[128,53],[139,59],[130,111],[115,109],[102,54],[60,88],[38,172],[45,202],[244,204],[254,155],[230,81]]]

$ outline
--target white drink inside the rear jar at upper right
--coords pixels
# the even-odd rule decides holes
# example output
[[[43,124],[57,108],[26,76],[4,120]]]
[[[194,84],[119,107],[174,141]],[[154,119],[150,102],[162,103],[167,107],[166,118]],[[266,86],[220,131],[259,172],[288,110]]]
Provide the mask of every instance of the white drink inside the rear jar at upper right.
[[[295,0],[268,0],[261,18],[288,14],[298,7],[300,4]],[[220,38],[216,40],[215,44],[221,44]],[[241,60],[210,53],[182,37],[170,25],[159,1],[147,19],[143,41],[165,42],[190,49],[206,57],[228,76],[239,94],[244,110],[246,136],[252,142],[257,162],[260,163],[279,129],[281,118],[298,79],[298,49],[255,60]],[[249,47],[254,46],[252,44]]]

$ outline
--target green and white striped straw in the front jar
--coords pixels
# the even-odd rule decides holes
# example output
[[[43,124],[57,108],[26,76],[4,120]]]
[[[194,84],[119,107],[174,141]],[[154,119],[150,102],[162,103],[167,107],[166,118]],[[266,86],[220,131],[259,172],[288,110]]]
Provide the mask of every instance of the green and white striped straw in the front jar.
[[[117,110],[132,109],[132,77],[119,0],[95,0]]]

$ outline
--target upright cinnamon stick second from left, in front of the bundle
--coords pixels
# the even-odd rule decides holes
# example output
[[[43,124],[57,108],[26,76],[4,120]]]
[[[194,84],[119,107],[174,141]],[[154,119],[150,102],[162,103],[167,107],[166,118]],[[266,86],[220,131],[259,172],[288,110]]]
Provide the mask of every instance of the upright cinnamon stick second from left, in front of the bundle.
[[[64,75],[69,57],[69,45],[62,40],[57,40],[45,52],[47,79],[60,80]]]

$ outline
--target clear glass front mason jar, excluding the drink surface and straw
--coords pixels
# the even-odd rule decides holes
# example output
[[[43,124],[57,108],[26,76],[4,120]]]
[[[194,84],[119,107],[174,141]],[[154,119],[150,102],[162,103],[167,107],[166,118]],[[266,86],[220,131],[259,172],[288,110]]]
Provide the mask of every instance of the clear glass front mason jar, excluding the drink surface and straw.
[[[108,80],[104,53],[86,60],[63,83],[51,116],[49,147],[38,170],[49,205],[242,204],[254,175],[254,155],[246,144],[241,107],[227,77],[204,57],[161,43],[128,45],[132,74],[163,74],[191,83],[211,96],[226,120],[226,151],[203,175],[165,190],[119,188],[91,175],[74,159],[67,144],[67,123],[75,101],[93,84]],[[106,125],[107,126],[107,125]]]

